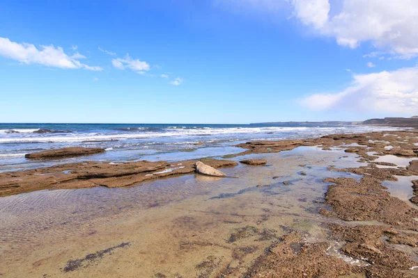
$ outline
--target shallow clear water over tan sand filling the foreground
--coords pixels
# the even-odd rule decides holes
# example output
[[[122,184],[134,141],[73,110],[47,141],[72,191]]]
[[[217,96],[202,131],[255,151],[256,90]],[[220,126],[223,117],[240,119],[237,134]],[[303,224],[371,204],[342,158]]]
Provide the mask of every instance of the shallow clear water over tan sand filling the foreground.
[[[310,242],[327,240],[322,224],[341,221],[317,212],[323,205],[316,202],[327,189],[321,180],[359,178],[327,166],[362,165],[355,154],[316,147],[245,158],[265,158],[268,166],[222,169],[236,179],[189,174],[131,188],[42,190],[0,198],[0,273],[215,277],[227,269],[229,277],[238,277],[289,229],[309,232]],[[65,268],[85,257],[76,261],[79,268]]]

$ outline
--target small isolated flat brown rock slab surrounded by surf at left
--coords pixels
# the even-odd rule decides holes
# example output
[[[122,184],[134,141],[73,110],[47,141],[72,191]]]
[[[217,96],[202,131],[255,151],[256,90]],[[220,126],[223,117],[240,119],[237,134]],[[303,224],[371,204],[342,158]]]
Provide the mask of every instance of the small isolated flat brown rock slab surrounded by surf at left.
[[[95,148],[86,148],[86,147],[66,147],[63,149],[52,149],[50,151],[44,152],[33,152],[31,154],[25,154],[25,158],[32,159],[54,159],[54,158],[63,158],[63,157],[73,157],[73,156],[85,156],[88,154],[99,154],[101,152],[106,152],[105,149],[95,147]]]

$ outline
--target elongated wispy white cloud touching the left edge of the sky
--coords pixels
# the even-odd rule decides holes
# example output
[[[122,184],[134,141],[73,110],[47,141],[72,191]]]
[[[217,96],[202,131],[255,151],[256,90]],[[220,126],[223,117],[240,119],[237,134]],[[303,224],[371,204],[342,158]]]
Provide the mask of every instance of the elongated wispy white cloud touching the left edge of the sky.
[[[77,60],[80,58],[79,56],[68,56],[64,53],[62,47],[41,45],[38,49],[33,44],[11,42],[8,38],[0,38],[0,55],[25,64],[40,64],[61,69],[103,70],[102,67],[91,67],[80,63]],[[83,58],[85,57],[83,56]]]

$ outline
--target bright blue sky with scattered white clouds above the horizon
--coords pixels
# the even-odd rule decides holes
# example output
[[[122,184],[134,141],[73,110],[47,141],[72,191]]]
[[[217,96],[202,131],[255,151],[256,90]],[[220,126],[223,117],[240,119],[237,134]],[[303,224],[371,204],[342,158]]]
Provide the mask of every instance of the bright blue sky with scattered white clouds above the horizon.
[[[412,115],[417,0],[0,1],[0,122]]]

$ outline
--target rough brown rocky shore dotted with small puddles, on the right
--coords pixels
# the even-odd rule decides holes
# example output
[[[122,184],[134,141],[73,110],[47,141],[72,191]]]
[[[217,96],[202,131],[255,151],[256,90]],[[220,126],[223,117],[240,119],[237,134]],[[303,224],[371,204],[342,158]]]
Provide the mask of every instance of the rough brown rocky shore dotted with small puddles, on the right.
[[[346,225],[328,224],[330,239],[345,242],[340,252],[361,260],[364,266],[353,266],[327,256],[329,243],[307,243],[306,234],[291,231],[274,243],[258,258],[246,277],[411,277],[408,270],[418,262],[408,252],[418,247],[418,210],[397,197],[392,197],[382,186],[382,181],[396,181],[396,176],[418,176],[418,161],[410,161],[407,167],[394,163],[374,162],[378,156],[393,155],[416,158],[418,132],[392,131],[383,133],[336,134],[312,140],[280,142],[248,142],[240,147],[247,152],[281,152],[298,146],[318,145],[325,150],[342,147],[346,152],[359,155],[366,166],[330,171],[352,172],[362,175],[354,178],[328,178],[330,183],[320,213],[346,221]],[[247,153],[246,152],[246,153]],[[412,181],[417,202],[417,181]],[[364,222],[365,224],[350,224]],[[380,224],[370,226],[369,222]],[[403,246],[395,248],[394,245]],[[344,276],[345,277],[345,276]],[[355,276],[357,277],[357,276]]]

